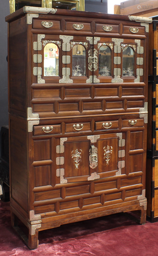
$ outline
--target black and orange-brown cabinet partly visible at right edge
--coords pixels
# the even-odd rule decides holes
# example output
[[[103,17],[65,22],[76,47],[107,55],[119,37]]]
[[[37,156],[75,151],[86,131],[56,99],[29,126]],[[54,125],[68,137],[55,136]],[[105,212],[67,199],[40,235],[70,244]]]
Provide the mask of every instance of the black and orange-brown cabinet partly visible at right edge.
[[[149,26],[149,122],[147,137],[147,217],[151,222],[158,220],[158,200],[157,200],[157,175],[158,175],[158,122],[157,122],[157,96],[158,96],[158,71],[157,71],[157,20],[153,20]]]

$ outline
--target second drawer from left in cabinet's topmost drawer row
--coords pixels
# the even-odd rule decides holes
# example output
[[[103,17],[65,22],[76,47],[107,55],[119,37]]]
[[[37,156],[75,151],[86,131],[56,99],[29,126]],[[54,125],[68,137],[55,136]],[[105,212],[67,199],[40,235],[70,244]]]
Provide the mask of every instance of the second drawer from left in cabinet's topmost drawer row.
[[[91,24],[90,23],[82,23],[82,22],[66,22],[65,30],[91,32]]]

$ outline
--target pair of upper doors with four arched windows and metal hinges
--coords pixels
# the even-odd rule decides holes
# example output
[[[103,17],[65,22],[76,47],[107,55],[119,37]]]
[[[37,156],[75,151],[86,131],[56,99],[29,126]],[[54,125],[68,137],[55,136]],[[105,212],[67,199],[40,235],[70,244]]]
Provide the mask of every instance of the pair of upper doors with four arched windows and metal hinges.
[[[144,82],[144,40],[33,34],[34,83]]]

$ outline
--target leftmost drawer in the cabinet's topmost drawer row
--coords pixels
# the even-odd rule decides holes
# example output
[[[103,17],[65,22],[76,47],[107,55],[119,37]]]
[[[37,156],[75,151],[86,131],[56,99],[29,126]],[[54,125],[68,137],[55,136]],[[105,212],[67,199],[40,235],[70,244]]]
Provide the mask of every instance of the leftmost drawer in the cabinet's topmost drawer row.
[[[42,19],[33,19],[32,23],[33,29],[58,29],[60,30],[59,20],[42,20]]]

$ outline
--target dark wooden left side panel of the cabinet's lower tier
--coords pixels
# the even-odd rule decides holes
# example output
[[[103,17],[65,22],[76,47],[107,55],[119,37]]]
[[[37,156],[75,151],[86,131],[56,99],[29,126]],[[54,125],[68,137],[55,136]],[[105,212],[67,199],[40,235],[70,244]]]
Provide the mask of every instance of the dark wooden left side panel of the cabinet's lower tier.
[[[11,197],[28,210],[26,121],[10,119]]]

